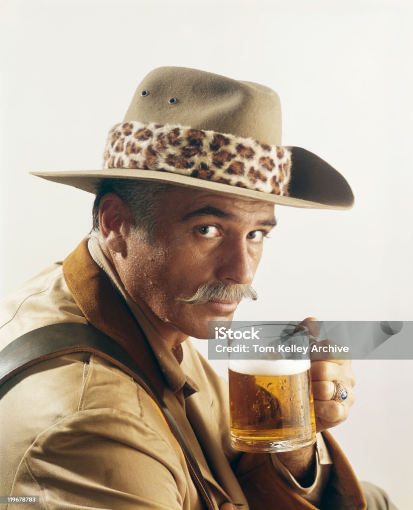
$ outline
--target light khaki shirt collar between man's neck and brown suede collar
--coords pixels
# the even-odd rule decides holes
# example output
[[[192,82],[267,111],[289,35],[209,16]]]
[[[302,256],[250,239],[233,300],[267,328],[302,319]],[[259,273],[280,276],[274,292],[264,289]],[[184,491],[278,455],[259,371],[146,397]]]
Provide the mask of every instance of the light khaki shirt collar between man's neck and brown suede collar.
[[[140,324],[171,390],[176,393],[182,389],[185,398],[199,391],[196,383],[184,373],[165,340],[159,335],[158,331],[153,327],[141,308],[126,291],[119,275],[102,251],[96,236],[92,235],[88,238],[88,249],[92,259],[107,274],[112,285],[123,297],[128,308]],[[182,352],[182,347],[180,350]]]

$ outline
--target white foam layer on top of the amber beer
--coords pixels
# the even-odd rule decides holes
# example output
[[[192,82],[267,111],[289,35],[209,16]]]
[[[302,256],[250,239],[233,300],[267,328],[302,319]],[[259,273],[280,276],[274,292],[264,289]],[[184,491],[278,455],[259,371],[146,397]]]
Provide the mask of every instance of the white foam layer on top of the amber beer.
[[[233,372],[248,375],[295,375],[308,370],[309,360],[229,360]]]

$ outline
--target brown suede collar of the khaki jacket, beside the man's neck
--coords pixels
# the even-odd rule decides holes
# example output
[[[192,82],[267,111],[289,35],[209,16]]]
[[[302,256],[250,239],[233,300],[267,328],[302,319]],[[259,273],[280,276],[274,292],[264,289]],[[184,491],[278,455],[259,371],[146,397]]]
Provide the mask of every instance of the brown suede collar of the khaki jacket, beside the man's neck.
[[[162,396],[166,381],[153,351],[120,294],[92,259],[87,239],[63,261],[63,276],[87,320],[130,354]]]

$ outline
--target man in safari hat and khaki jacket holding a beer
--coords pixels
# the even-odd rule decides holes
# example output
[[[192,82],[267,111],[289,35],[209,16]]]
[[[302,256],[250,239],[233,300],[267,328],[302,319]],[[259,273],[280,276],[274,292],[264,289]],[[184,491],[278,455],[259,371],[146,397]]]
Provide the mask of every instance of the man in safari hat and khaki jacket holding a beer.
[[[366,508],[328,432],[296,452],[231,449],[226,385],[187,340],[255,298],[274,203],[348,209],[344,177],[281,146],[272,90],[171,67],[139,85],[104,160],[104,170],[39,174],[96,193],[93,231],[6,300],[1,346],[29,338],[35,349],[62,330],[75,342],[87,325],[150,386],[100,347],[35,364],[24,352],[1,393],[1,494],[39,495],[48,509]],[[354,376],[348,361],[317,361],[312,378],[321,432],[347,418]]]

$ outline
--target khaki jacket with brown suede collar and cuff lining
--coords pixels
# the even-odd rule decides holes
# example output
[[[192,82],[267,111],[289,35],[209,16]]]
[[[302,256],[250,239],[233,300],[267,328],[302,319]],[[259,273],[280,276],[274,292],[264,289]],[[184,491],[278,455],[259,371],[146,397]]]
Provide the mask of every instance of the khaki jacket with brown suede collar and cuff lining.
[[[163,395],[217,507],[231,501],[243,510],[314,510],[280,477],[269,454],[231,449],[226,385],[188,341],[182,368],[199,391],[188,385],[172,391],[140,325],[85,241],[63,265],[54,264],[9,297],[1,313],[0,348],[61,322],[91,323],[121,344]],[[38,363],[8,381],[0,397],[0,494],[39,495],[38,507],[48,510],[202,508],[158,406],[99,356],[74,353]],[[323,436],[334,468],[321,508],[365,509],[346,457],[328,432]]]

